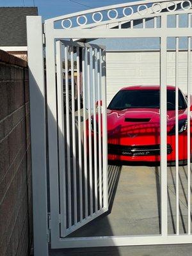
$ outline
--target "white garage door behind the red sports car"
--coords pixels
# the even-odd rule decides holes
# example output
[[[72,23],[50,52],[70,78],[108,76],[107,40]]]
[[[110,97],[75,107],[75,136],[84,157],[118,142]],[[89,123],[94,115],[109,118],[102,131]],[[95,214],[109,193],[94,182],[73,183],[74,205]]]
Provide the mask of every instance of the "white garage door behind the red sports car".
[[[107,52],[106,56],[108,104],[115,93],[125,86],[140,84],[159,85],[159,51],[113,51]],[[167,84],[175,85],[175,52],[169,51],[167,53],[167,61]],[[179,88],[184,93],[187,90],[187,63],[187,52],[180,51]]]

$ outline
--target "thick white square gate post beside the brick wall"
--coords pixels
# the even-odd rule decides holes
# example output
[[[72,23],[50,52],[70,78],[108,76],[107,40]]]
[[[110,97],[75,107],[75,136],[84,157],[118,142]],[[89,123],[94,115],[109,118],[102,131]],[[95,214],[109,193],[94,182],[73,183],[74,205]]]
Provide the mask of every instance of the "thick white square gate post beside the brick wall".
[[[27,17],[34,255],[48,256],[45,81],[42,17]]]

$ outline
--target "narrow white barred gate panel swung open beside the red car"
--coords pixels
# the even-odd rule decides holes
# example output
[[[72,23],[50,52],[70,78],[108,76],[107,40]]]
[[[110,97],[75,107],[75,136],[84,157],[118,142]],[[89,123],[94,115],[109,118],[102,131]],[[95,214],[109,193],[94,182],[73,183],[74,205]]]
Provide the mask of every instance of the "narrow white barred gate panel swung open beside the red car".
[[[108,211],[106,149],[102,149],[106,109],[101,106],[106,100],[101,90],[105,58],[104,49],[97,45],[56,42],[63,237]]]

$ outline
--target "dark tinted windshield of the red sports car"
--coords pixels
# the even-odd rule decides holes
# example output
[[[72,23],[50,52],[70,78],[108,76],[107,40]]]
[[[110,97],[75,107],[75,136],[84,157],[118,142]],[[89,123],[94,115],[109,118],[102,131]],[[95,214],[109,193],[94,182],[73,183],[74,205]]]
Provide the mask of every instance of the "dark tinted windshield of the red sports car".
[[[159,90],[122,90],[116,93],[108,109],[160,108]],[[179,109],[186,109],[186,100],[179,90]],[[167,90],[167,109],[175,110],[175,90]]]

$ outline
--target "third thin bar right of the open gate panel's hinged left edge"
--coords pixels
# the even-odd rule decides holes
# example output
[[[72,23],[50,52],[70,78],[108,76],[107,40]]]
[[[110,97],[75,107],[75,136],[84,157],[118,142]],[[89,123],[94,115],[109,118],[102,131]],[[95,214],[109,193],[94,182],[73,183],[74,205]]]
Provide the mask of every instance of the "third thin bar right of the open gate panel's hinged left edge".
[[[77,109],[78,109],[78,145],[79,145],[79,204],[80,221],[83,220],[83,188],[82,188],[82,148],[81,148],[81,88],[80,88],[80,60],[77,47]]]

